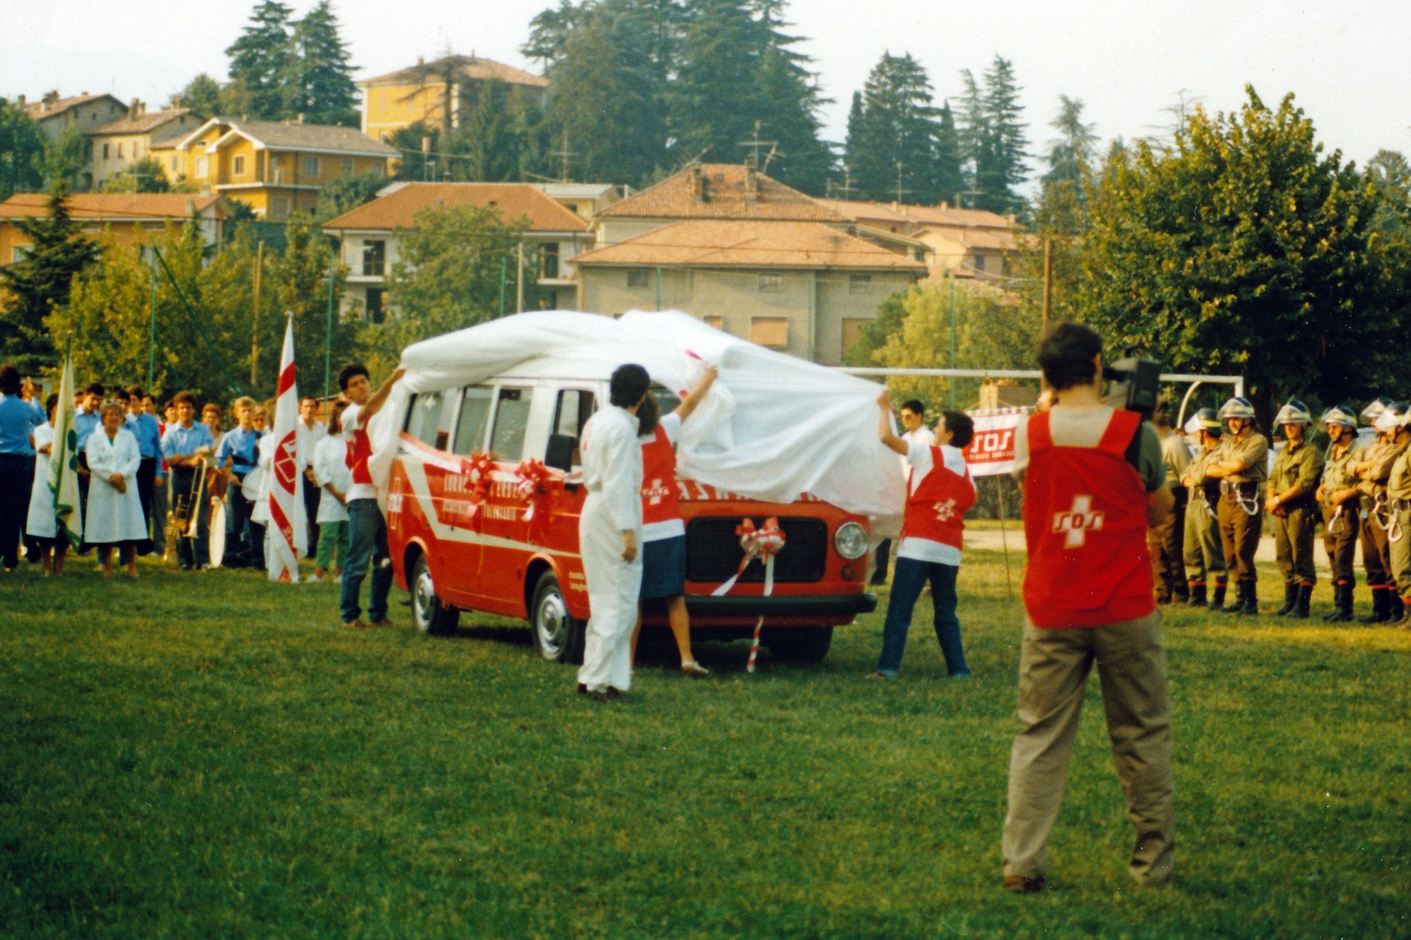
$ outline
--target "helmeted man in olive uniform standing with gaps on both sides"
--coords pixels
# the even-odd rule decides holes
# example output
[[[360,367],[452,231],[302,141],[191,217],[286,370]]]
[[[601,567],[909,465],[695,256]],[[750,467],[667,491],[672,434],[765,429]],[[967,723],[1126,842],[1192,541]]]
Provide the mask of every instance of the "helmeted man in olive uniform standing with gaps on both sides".
[[[1314,416],[1298,399],[1290,399],[1274,416],[1284,428],[1284,450],[1274,457],[1268,476],[1264,510],[1274,527],[1274,558],[1284,575],[1284,606],[1276,617],[1308,617],[1318,572],[1314,568],[1314,526],[1318,524],[1318,500],[1314,492],[1322,478],[1322,454],[1309,443],[1308,427]]]

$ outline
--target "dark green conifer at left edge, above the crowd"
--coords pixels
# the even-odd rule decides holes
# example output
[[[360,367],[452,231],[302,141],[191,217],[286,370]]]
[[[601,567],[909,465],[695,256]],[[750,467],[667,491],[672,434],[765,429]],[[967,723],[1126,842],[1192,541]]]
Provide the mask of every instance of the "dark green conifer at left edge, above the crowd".
[[[69,216],[66,187],[49,192],[44,216],[11,218],[30,241],[24,259],[0,268],[0,287],[10,302],[0,309],[0,361],[21,372],[54,365],[54,344],[44,319],[69,302],[73,276],[99,258],[99,247]]]

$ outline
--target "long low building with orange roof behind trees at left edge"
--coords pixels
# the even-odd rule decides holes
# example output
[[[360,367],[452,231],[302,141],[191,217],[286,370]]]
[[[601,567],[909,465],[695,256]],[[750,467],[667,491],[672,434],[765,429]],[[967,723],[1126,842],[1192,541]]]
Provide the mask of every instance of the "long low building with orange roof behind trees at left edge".
[[[24,258],[30,238],[13,224],[16,218],[48,216],[45,193],[16,193],[0,203],[0,265]],[[219,196],[186,193],[73,193],[65,199],[69,214],[83,231],[110,234],[116,245],[145,245],[168,223],[195,221],[202,241],[216,247],[224,240],[226,202]]]

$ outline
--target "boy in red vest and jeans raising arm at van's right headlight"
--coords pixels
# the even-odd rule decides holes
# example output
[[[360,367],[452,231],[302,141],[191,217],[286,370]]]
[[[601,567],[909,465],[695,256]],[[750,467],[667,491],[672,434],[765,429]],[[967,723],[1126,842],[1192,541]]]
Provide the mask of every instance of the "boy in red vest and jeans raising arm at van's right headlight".
[[[961,534],[965,510],[975,505],[975,483],[961,448],[975,435],[975,424],[961,412],[943,412],[935,426],[935,443],[906,441],[892,433],[892,399],[878,399],[882,444],[902,454],[907,464],[906,517],[892,571],[892,599],[882,627],[882,655],[875,679],[895,679],[902,671],[912,610],[921,588],[931,583],[935,609],[935,638],[941,643],[945,671],[952,679],[968,679],[961,621],[955,617],[955,576],[961,571]]]

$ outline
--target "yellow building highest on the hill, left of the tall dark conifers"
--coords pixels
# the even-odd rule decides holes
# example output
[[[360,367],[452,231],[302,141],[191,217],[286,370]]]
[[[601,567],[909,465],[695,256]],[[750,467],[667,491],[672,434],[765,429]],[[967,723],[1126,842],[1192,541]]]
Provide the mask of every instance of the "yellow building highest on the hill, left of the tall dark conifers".
[[[504,82],[543,103],[549,80],[476,54],[447,55],[358,82],[363,89],[363,132],[380,141],[416,124],[454,130],[476,101],[476,86]]]

